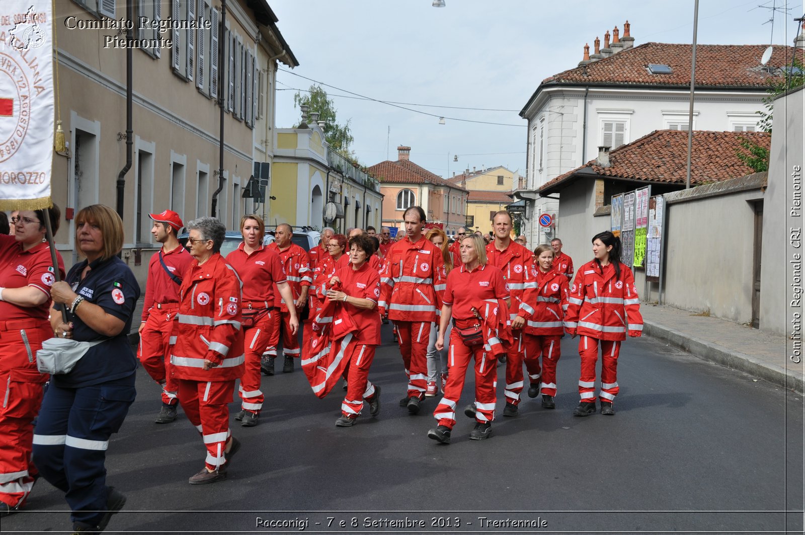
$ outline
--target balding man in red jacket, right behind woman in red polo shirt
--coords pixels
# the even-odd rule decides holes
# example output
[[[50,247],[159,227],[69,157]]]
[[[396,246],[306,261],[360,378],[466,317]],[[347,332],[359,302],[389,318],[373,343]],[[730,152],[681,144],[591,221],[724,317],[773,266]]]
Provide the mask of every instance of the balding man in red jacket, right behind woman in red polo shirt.
[[[274,359],[277,355],[277,344],[279,343],[279,332],[283,332],[283,372],[294,371],[294,359],[299,359],[299,338],[296,337],[296,330],[299,327],[297,312],[308,304],[308,290],[313,282],[313,273],[310,270],[310,259],[308,253],[291,241],[293,229],[287,223],[281,223],[274,231],[275,243],[269,243],[268,248],[279,255],[283,263],[285,277],[288,286],[291,288],[291,300],[293,305],[288,305],[285,297],[275,295],[274,308],[279,311],[274,315],[271,334],[268,339],[266,353],[268,359],[262,363],[262,371],[266,375],[274,375]],[[296,328],[292,328],[291,321],[296,321]]]

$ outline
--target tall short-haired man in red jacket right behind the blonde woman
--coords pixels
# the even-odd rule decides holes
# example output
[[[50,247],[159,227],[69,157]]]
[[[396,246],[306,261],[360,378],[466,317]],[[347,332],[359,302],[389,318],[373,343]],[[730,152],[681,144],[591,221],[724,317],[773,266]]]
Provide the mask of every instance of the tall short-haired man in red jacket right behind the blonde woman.
[[[534,259],[531,251],[515,243],[511,238],[511,230],[514,227],[511,214],[506,210],[497,212],[492,218],[495,239],[486,246],[486,257],[489,263],[503,272],[503,280],[506,282],[506,289],[511,297],[511,320],[514,321],[517,311],[522,303],[522,292],[535,284],[532,275]],[[522,324],[512,324],[512,335],[514,346],[506,355],[506,407],[503,409],[503,416],[517,416],[518,405],[520,404],[520,392],[522,392],[523,375],[523,342]]]

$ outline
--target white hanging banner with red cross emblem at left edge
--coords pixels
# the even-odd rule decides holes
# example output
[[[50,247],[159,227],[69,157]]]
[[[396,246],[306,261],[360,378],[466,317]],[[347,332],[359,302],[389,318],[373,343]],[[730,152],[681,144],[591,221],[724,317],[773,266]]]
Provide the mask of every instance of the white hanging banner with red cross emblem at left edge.
[[[0,1],[0,210],[51,206],[51,0]]]

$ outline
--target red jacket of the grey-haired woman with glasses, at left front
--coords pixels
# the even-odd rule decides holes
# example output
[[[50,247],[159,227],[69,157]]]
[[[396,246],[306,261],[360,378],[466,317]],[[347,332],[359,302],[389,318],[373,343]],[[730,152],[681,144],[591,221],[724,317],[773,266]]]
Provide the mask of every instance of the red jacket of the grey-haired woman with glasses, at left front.
[[[229,381],[243,375],[241,280],[218,253],[193,261],[179,290],[171,343],[177,379]],[[204,371],[204,359],[217,366]]]

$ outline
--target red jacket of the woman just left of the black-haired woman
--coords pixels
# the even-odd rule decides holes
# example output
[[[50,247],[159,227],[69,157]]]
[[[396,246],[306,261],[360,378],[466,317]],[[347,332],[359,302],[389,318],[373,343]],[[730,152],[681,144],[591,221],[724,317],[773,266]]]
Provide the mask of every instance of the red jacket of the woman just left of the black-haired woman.
[[[519,315],[526,319],[522,330],[537,336],[564,333],[564,311],[568,309],[570,288],[568,277],[555,270],[543,273],[534,268],[536,285],[526,288]]]

